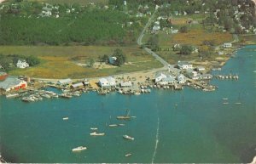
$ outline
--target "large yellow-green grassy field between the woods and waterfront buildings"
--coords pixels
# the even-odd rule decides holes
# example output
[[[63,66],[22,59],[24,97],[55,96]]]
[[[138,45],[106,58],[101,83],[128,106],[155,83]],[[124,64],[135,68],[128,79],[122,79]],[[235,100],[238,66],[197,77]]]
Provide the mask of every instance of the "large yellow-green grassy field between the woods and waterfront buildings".
[[[36,55],[41,59],[41,63],[35,67],[27,69],[15,69],[10,71],[10,75],[25,75],[43,78],[83,78],[96,76],[109,76],[131,71],[143,71],[151,68],[159,68],[162,65],[152,56],[143,53],[137,47],[121,47],[127,57],[129,64],[121,67],[110,67],[103,69],[89,68],[87,66],[76,65],[76,62],[89,62],[90,59],[98,59],[99,55],[111,55],[117,47],[17,47],[0,46],[0,54],[23,54]],[[79,59],[79,60],[74,60]]]

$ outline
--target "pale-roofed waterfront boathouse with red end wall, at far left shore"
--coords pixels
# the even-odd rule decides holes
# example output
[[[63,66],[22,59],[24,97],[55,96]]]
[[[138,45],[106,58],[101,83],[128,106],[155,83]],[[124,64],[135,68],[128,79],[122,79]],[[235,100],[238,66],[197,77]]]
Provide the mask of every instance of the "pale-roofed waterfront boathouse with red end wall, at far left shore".
[[[8,76],[3,82],[0,82],[0,89],[9,92],[11,90],[19,90],[27,87],[24,80],[20,80],[15,76]]]

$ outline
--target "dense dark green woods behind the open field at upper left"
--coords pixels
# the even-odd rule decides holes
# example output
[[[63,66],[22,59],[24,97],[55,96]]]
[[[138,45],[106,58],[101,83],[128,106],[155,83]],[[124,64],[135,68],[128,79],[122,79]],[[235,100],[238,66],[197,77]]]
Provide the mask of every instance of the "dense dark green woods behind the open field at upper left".
[[[0,44],[122,44],[125,30],[118,22],[126,19],[126,14],[115,10],[92,10],[77,18],[59,19],[5,14],[1,16]]]

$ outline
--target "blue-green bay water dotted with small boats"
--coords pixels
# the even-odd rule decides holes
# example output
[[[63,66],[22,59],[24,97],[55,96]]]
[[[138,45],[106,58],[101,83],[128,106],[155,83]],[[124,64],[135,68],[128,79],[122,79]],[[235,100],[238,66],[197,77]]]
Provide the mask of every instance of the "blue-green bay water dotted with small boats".
[[[222,71],[213,72],[240,77],[212,80],[218,86],[215,92],[85,93],[29,104],[1,97],[1,154],[13,162],[250,162],[256,156],[255,71],[252,45],[238,50]],[[230,104],[223,105],[223,98]],[[137,118],[118,121],[125,109]],[[62,120],[65,116],[68,121]],[[106,126],[113,123],[125,126]],[[106,135],[91,137],[90,127]],[[123,139],[124,134],[135,140]],[[73,153],[79,145],[88,150]],[[132,156],[125,157],[127,153]]]

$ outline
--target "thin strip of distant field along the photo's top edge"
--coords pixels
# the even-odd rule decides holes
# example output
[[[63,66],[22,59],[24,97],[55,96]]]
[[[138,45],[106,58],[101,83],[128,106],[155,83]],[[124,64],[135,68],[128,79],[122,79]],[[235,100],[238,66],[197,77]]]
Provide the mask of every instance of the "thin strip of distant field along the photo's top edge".
[[[73,4],[73,3],[79,3],[79,4],[88,4],[88,3],[102,3],[107,4],[108,0],[26,0],[26,1],[38,1],[38,2],[44,2],[44,3],[67,3],[67,4]]]

